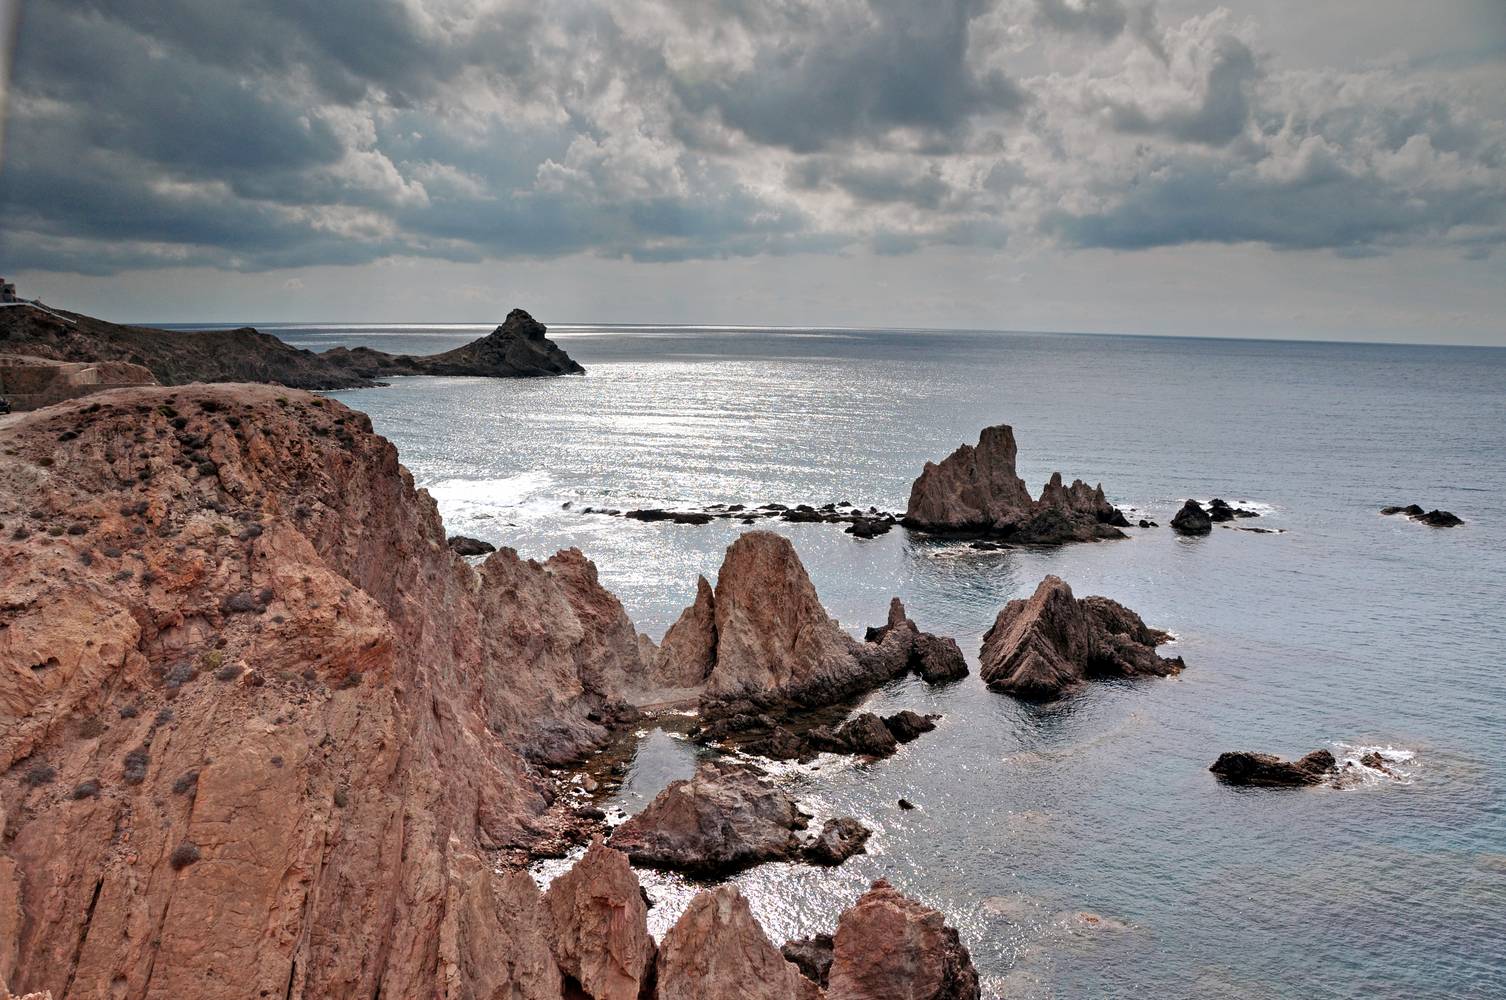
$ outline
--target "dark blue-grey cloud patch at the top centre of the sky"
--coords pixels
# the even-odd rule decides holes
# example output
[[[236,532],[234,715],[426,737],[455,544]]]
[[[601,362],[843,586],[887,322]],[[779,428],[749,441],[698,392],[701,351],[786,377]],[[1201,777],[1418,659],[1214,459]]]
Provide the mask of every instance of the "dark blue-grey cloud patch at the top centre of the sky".
[[[685,107],[715,111],[755,142],[813,152],[899,128],[955,136],[974,114],[1026,101],[1003,72],[977,72],[967,59],[983,0],[833,9],[807,36],[761,47],[745,69],[676,80]]]

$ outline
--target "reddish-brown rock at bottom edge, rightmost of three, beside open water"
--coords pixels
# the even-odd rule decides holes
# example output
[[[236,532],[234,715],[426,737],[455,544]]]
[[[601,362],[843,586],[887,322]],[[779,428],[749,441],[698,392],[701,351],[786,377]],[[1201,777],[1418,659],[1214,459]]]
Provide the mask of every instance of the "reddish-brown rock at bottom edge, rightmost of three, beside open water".
[[[837,920],[827,1000],[977,1000],[977,970],[935,910],[873,883]]]

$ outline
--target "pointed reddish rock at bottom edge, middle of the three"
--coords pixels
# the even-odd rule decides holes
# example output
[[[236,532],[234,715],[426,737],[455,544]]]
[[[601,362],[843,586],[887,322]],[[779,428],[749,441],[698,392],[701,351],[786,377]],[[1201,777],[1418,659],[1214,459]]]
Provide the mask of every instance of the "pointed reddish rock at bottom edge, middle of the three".
[[[892,994],[902,995],[902,994]],[[819,1000],[780,955],[736,886],[699,893],[664,935],[658,1000]]]

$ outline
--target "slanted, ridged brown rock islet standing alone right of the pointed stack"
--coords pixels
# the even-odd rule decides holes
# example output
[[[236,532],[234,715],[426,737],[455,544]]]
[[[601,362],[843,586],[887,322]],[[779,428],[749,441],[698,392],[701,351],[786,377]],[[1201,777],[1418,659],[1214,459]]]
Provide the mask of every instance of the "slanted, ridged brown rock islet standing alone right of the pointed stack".
[[[1077,599],[1047,577],[1029,601],[1011,601],[983,636],[979,654],[989,688],[1017,697],[1057,697],[1089,679],[1169,676],[1181,657],[1158,657],[1170,636],[1108,598]]]

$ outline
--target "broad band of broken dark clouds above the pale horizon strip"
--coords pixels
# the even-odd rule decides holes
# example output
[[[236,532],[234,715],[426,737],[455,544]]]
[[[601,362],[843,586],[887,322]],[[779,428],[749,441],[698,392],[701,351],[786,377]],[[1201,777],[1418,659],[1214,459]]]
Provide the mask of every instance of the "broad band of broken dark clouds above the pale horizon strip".
[[[1479,60],[1122,0],[30,5],[0,261],[111,273],[1506,241]]]

